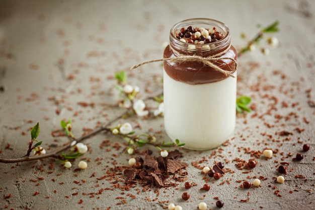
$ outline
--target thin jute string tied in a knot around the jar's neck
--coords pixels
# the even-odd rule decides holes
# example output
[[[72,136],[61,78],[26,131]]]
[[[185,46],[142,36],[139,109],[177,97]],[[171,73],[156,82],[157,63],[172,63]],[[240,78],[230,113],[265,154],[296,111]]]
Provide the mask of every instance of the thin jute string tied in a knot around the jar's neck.
[[[147,63],[152,63],[152,62],[158,62],[158,61],[171,61],[171,62],[179,62],[179,63],[184,63],[187,61],[198,61],[201,62],[205,65],[210,66],[211,68],[213,68],[215,71],[218,71],[222,74],[224,74],[225,76],[229,76],[232,78],[234,77],[234,72],[237,71],[238,69],[238,62],[232,58],[232,57],[221,57],[222,55],[224,55],[229,49],[230,49],[231,45],[229,45],[225,50],[223,50],[220,53],[217,53],[215,55],[212,56],[208,56],[208,57],[202,57],[199,55],[184,55],[184,54],[180,54],[178,53],[175,49],[173,49],[171,46],[171,50],[173,50],[174,53],[178,54],[177,57],[169,57],[169,58],[161,58],[161,59],[154,59],[154,60],[148,60],[148,61],[144,61],[141,62],[139,64],[133,65],[130,69],[134,69],[137,68],[141,65],[147,64]],[[221,59],[228,59],[231,60],[234,64],[235,64],[235,69],[231,72],[225,71],[224,69],[222,69],[220,66],[216,65],[215,62]]]

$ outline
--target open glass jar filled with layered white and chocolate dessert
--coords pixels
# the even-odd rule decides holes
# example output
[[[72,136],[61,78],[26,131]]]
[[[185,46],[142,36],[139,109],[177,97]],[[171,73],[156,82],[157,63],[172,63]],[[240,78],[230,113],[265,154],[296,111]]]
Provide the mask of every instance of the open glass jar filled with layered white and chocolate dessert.
[[[196,29],[209,29],[208,38],[212,41],[188,43],[192,37],[185,38],[184,35],[186,42],[183,42],[180,40],[182,28],[194,30],[192,34],[196,34]],[[222,36],[215,40],[212,32],[220,32]],[[183,56],[184,61],[172,60]],[[190,59],[192,56],[217,58],[210,62],[222,71]],[[228,27],[203,18],[179,22],[171,28],[170,44],[164,50],[164,58],[170,58],[164,60],[163,75],[167,134],[174,142],[179,139],[193,150],[220,146],[233,134],[236,115],[237,52],[231,45]]]

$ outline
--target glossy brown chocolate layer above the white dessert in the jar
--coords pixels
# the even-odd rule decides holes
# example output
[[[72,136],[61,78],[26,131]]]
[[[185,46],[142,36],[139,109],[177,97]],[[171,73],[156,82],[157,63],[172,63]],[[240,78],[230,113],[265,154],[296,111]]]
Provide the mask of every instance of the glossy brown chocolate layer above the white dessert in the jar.
[[[172,58],[177,55],[174,54],[170,46],[167,46],[163,56],[164,58]],[[236,59],[237,52],[235,48],[231,46],[229,51],[225,55],[222,55],[222,57],[232,57]],[[235,63],[230,59],[218,60],[214,64],[228,72],[233,72],[235,69]],[[164,61],[164,69],[174,80],[190,85],[214,83],[229,77],[198,61],[187,61],[183,63]]]

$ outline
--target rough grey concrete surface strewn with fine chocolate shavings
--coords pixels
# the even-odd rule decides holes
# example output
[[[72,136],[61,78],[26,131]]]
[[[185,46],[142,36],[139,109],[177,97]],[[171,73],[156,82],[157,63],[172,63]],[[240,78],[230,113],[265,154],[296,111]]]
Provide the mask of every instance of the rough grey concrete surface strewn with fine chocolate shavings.
[[[165,209],[171,202],[198,209],[201,201],[208,209],[218,209],[216,197],[224,201],[222,209],[315,209],[314,9],[313,1],[0,1],[2,158],[26,154],[29,128],[37,122],[38,139],[52,152],[69,143],[66,137],[52,136],[60,120],[72,118],[73,134],[81,136],[114,119],[123,111],[114,106],[119,100],[113,88],[117,71],[126,71],[128,83],[139,86],[139,98],[161,90],[161,63],[129,68],[161,58],[170,28],[181,20],[220,20],[229,26],[237,48],[246,44],[241,33],[251,38],[257,24],[280,22],[274,34],[277,48],[269,55],[257,49],[238,59],[238,95],[252,97],[253,111],[238,114],[229,143],[203,152],[181,149],[181,160],[189,163],[187,180],[197,186],[186,190],[184,182],[178,182],[161,189],[137,185],[122,190],[117,183],[124,185],[123,175],[114,176],[117,183],[110,176],[98,179],[114,166],[128,166],[130,158],[123,138],[100,133],[84,141],[89,152],[70,169],[54,159],[0,163],[0,209]],[[83,101],[94,106],[78,103]],[[149,106],[156,108],[155,103]],[[112,125],[126,121],[140,125],[137,133],[170,141],[162,117],[133,116]],[[109,146],[101,147],[104,140]],[[116,143],[118,150],[113,148]],[[303,152],[306,143],[310,150]],[[277,153],[268,160],[257,158],[252,170],[238,170],[238,160],[248,161],[265,148]],[[143,149],[158,154],[154,147]],[[304,159],[292,160],[296,153]],[[75,170],[81,159],[88,161],[88,168]],[[233,173],[210,179],[210,191],[200,190],[207,180],[192,163],[212,166],[218,161],[225,161]],[[289,164],[283,184],[275,182],[280,162]],[[239,180],[255,176],[266,178],[260,187],[240,187]],[[181,198],[185,191],[188,201]]]

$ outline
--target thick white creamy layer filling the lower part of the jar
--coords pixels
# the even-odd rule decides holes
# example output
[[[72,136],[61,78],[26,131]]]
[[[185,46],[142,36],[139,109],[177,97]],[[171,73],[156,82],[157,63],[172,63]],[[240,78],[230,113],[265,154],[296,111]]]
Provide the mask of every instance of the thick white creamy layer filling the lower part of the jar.
[[[236,73],[235,73],[236,75]],[[218,147],[235,128],[237,79],[189,85],[164,71],[164,126],[169,137],[185,147],[206,150]]]

